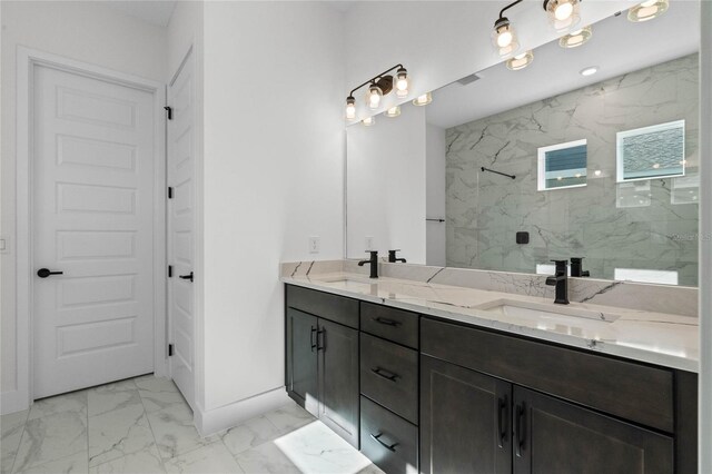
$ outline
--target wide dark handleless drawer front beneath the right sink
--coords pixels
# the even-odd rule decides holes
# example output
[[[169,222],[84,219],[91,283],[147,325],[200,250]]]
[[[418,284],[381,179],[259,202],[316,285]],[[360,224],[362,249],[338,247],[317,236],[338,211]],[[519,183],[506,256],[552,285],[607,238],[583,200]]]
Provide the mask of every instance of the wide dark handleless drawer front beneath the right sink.
[[[673,373],[423,318],[422,352],[495,377],[673,432]]]

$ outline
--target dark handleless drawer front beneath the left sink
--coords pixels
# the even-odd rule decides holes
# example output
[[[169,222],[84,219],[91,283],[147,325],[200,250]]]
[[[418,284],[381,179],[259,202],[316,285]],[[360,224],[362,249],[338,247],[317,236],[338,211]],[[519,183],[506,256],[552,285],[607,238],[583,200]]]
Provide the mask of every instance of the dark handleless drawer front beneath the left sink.
[[[358,329],[358,300],[287,285],[287,306]]]

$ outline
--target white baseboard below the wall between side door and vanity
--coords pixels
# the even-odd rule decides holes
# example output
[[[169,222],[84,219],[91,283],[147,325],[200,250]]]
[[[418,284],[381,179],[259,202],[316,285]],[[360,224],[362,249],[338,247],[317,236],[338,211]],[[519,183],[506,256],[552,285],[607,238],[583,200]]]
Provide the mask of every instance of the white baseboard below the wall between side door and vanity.
[[[201,436],[209,436],[265,412],[279,408],[289,403],[289,399],[285,387],[279,387],[219,408],[205,412],[198,408],[194,413],[194,422]]]

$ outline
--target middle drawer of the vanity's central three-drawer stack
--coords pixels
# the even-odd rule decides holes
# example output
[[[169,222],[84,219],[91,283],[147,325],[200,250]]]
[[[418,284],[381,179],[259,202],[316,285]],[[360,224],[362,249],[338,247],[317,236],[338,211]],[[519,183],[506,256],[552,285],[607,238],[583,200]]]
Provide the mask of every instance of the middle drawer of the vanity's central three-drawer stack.
[[[418,353],[362,333],[360,393],[418,422]]]

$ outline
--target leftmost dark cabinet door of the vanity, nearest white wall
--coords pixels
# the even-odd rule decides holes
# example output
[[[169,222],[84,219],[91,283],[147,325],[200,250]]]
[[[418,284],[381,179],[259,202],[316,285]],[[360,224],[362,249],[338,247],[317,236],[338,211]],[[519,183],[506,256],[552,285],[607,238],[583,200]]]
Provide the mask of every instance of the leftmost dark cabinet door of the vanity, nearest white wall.
[[[318,409],[316,316],[287,308],[287,393],[313,415]]]

